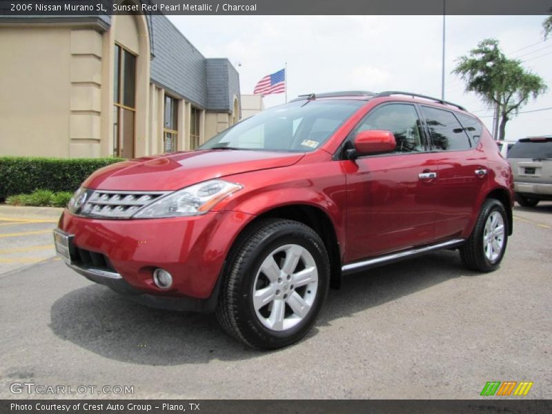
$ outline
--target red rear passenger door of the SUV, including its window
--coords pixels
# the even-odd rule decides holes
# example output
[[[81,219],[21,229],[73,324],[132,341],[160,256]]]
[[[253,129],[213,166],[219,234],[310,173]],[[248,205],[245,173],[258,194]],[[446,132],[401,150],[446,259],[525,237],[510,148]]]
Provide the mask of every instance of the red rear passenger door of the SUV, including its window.
[[[486,154],[477,145],[482,126],[477,119],[451,110],[423,105],[420,110],[437,168],[433,185],[435,240],[450,239],[469,224],[477,197],[489,178]]]

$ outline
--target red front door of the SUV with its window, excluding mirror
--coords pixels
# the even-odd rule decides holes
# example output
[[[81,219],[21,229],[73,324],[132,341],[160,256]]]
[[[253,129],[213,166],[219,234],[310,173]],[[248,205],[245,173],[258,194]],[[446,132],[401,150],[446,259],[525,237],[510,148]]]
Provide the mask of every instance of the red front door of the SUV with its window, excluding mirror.
[[[435,180],[431,173],[437,166],[435,156],[428,152],[415,105],[377,106],[348,139],[362,130],[393,132],[397,148],[342,161],[347,179],[346,262],[427,244],[434,238]]]

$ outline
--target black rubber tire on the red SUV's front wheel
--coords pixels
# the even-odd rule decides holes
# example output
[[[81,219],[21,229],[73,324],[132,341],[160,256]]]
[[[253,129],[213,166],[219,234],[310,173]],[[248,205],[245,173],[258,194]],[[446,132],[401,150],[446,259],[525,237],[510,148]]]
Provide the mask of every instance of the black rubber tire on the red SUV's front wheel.
[[[285,282],[288,274],[283,269],[288,255],[285,249],[290,248],[288,246],[298,246],[298,251],[302,253],[294,267],[295,270],[289,273],[290,282]],[[275,253],[279,249],[284,250]],[[295,253],[295,250],[293,251]],[[282,255],[281,259],[279,259],[279,255]],[[275,277],[269,279],[264,275],[262,265],[267,263],[269,257],[274,259],[278,266],[279,273],[277,275],[285,275],[284,282],[280,282],[281,277],[277,277],[278,282],[276,282]],[[315,263],[314,273],[317,271],[317,286],[314,289],[311,288],[313,284],[305,284],[302,291],[302,287],[295,287],[292,283],[301,270],[299,266],[305,266],[303,270],[307,270],[304,257],[310,264],[308,269],[313,268],[313,261]],[[293,264],[289,266],[293,266]],[[286,267],[289,268],[289,266]],[[311,330],[328,294],[330,264],[324,242],[312,228],[292,220],[266,219],[255,224],[242,237],[239,237],[228,257],[223,277],[216,315],[224,331],[253,348],[276,349],[299,341]],[[271,280],[274,282],[270,282]],[[265,286],[262,286],[263,283]],[[286,284],[285,290],[282,283]],[[259,284],[261,284],[260,288]],[[268,288],[275,289],[277,287],[282,287],[282,289],[273,290],[274,296],[271,302],[266,302],[265,307],[255,308],[254,292],[259,293],[263,288],[268,290]],[[313,295],[314,290],[315,294]],[[277,292],[279,292],[279,297],[276,296]],[[284,300],[284,295],[287,295],[287,300],[290,301],[291,295],[300,296],[301,292],[304,292],[305,297],[308,295],[308,300],[312,302],[306,314],[297,317],[288,302]],[[277,328],[273,330],[266,324],[270,322],[269,319],[273,313],[277,314],[276,309],[283,310],[279,319],[277,316],[275,319],[284,322],[282,322],[282,326],[275,324],[274,326]],[[288,321],[289,316],[286,317],[289,311],[292,312],[291,322]],[[269,313],[270,317],[264,317],[261,312]],[[297,322],[297,319],[300,322]],[[288,322],[295,323],[295,325],[284,328],[284,324],[288,324]],[[281,329],[278,330],[278,328]]]

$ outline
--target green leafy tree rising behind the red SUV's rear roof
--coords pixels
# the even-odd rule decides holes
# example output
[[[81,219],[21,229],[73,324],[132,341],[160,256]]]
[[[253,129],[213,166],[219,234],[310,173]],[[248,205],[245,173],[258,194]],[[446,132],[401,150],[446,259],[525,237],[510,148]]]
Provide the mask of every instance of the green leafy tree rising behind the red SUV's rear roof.
[[[506,135],[506,122],[517,115],[529,98],[536,99],[547,89],[543,79],[525,70],[521,63],[508,59],[497,40],[485,39],[477,43],[469,56],[458,58],[453,70],[466,82],[466,92],[475,92],[497,108],[500,140]]]

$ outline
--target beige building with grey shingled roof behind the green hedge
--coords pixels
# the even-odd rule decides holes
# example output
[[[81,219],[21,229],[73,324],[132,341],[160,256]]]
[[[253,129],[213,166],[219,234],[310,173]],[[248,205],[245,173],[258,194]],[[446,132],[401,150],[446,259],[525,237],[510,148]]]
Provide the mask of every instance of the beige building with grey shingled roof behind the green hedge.
[[[240,119],[238,73],[162,15],[0,18],[0,155],[141,157]]]

